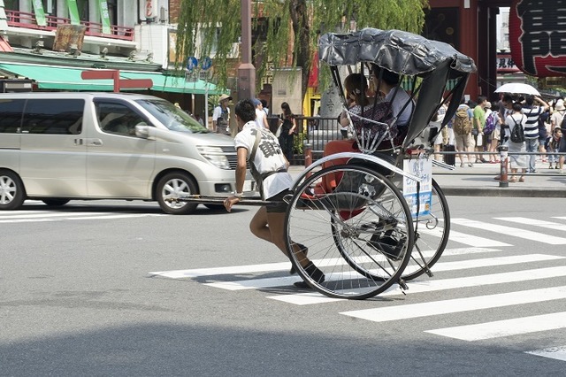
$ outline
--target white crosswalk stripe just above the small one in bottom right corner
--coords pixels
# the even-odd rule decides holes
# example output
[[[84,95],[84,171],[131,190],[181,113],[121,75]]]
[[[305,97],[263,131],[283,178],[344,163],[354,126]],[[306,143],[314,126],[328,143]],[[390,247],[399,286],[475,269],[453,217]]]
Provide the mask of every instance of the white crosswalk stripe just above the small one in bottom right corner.
[[[474,342],[510,335],[522,335],[566,327],[566,312],[535,315],[516,319],[495,320],[477,325],[426,330],[425,333]]]

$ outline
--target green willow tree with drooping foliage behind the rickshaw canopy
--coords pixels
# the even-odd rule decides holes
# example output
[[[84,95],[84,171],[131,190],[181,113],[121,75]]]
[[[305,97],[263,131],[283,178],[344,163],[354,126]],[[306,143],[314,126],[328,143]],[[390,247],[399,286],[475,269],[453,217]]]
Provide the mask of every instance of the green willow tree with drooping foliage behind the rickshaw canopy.
[[[302,67],[302,94],[306,93],[317,38],[329,31],[376,27],[420,33],[428,0],[252,0],[253,27],[262,30],[253,46],[256,79],[268,63],[274,68]],[[226,88],[228,62],[241,36],[241,0],[181,0],[177,51],[181,57],[215,53],[215,81]],[[200,37],[197,37],[200,35]],[[294,41],[290,42],[290,41]],[[287,64],[292,43],[292,61]],[[262,57],[262,58],[258,58]],[[323,87],[324,87],[323,82]]]

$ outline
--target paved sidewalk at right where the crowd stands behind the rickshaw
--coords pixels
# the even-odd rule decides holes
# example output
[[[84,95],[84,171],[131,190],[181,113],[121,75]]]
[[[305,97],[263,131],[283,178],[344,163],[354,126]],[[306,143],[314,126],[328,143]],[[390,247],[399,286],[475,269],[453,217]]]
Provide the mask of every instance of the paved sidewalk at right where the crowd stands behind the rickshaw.
[[[493,179],[500,169],[500,164],[474,164],[473,167],[464,164],[460,167],[460,161],[456,159],[455,170],[433,166],[432,176],[447,196],[566,197],[566,164],[563,173],[558,173],[558,170],[549,169],[547,163],[537,161],[537,173],[525,174],[524,182],[509,182],[509,187],[500,187],[500,181]],[[289,173],[296,177],[303,170],[304,166],[292,165]]]

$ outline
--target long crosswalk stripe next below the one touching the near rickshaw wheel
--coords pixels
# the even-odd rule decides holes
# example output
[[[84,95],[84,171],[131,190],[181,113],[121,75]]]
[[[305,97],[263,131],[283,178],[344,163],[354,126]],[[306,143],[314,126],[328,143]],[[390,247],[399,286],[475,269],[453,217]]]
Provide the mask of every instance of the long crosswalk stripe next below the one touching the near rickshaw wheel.
[[[545,289],[522,290],[496,295],[455,298],[421,304],[387,306],[360,311],[340,312],[340,314],[373,322],[386,322],[398,319],[427,317],[455,312],[469,312],[481,309],[499,308],[517,304],[532,304],[543,301],[566,299],[566,286]]]

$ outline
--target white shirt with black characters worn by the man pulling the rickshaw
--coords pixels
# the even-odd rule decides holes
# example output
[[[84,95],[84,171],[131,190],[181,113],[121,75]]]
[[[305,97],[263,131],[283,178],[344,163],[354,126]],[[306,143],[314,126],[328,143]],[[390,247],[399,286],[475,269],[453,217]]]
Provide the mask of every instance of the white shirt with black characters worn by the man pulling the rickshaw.
[[[256,170],[262,174],[287,170],[287,160],[283,155],[277,137],[265,127],[257,127],[255,121],[246,123],[234,138],[236,150],[238,148],[248,150],[249,159],[249,154],[256,143],[256,133],[258,131],[262,133],[261,141],[257,145],[254,161],[249,161],[249,163],[254,164]],[[293,186],[293,177],[287,171],[272,174],[264,179],[262,197],[269,199],[291,186]]]

